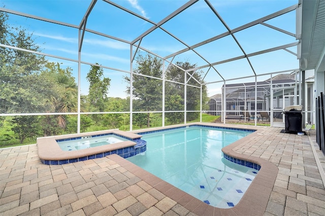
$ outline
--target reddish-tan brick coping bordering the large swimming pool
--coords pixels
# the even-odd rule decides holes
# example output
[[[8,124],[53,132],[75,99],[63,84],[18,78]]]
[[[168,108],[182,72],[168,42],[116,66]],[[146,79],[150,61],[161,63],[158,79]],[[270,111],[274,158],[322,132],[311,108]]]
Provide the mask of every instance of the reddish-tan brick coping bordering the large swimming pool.
[[[185,126],[189,125],[222,127],[219,124],[216,125],[215,123],[190,123],[186,124]],[[179,126],[184,125],[168,126],[164,127],[164,129],[170,129]],[[165,194],[169,198],[173,199],[174,201],[181,204],[191,212],[196,213],[198,215],[263,215],[266,211],[268,201],[276,180],[276,176],[278,174],[278,167],[267,160],[239,154],[233,151],[234,148],[238,147],[243,142],[248,142],[250,139],[252,139],[252,137],[255,137],[256,134],[263,135],[263,128],[256,128],[251,125],[249,126],[249,130],[253,129],[255,130],[255,132],[241,138],[238,141],[235,141],[229,146],[222,148],[222,152],[226,155],[229,155],[233,158],[237,158],[239,160],[245,160],[251,163],[255,163],[261,166],[241,200],[238,202],[238,204],[231,208],[218,208],[208,205],[207,203],[174,187],[173,185],[165,182],[163,179],[151,174],[150,172],[142,169],[141,167],[133,164],[132,162],[129,162],[128,160],[125,160],[124,158],[118,155],[109,155],[107,157],[124,167],[129,172],[141,178],[143,181],[148,183],[150,186],[152,186],[159,192]],[[245,127],[242,127],[242,125],[227,125],[224,128],[247,129]],[[159,129],[161,129],[161,127]],[[154,130],[157,130],[157,128],[142,129],[133,132],[139,133]]]

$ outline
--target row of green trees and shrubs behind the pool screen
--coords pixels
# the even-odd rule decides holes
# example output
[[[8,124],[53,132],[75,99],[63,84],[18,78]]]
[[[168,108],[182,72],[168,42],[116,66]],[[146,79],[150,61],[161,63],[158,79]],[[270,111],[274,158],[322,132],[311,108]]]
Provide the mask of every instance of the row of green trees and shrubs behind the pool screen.
[[[0,43],[30,51],[41,52],[32,33],[22,27],[7,23],[8,15],[0,12]],[[76,113],[78,111],[78,84],[73,69],[63,68],[59,62],[50,62],[44,55],[0,46],[0,113],[22,114],[0,117],[0,147],[17,143],[35,143],[36,137],[77,132],[77,115],[28,115],[33,113]],[[126,93],[133,96],[133,128],[161,126],[163,110],[163,88],[165,111],[199,111],[202,71],[183,69],[196,67],[189,62],[176,62],[163,74],[163,61],[151,54],[137,56],[133,70],[132,89],[129,76]],[[166,81],[163,83],[163,76]],[[159,78],[159,79],[155,79]],[[104,76],[99,63],[91,65],[86,79],[89,83],[87,95],[81,95],[81,112],[125,112],[129,111],[130,98],[108,97],[111,79]],[[186,79],[186,80],[185,80]],[[172,81],[172,82],[171,82]],[[186,86],[186,83],[190,86]],[[207,91],[203,86],[203,101]],[[186,98],[186,100],[185,100]],[[199,113],[187,113],[186,121],[199,117]],[[81,132],[119,128],[129,130],[129,114],[81,115]],[[184,122],[184,112],[167,112],[165,124]]]

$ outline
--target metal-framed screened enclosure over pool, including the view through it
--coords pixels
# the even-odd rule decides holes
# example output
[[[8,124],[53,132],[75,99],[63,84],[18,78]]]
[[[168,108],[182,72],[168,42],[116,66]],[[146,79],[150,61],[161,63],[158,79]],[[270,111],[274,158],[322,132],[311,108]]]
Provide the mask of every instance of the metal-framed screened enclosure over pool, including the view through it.
[[[206,114],[282,127],[288,105],[302,105],[303,122],[316,122],[324,1],[4,0],[0,7],[2,140],[132,131]]]

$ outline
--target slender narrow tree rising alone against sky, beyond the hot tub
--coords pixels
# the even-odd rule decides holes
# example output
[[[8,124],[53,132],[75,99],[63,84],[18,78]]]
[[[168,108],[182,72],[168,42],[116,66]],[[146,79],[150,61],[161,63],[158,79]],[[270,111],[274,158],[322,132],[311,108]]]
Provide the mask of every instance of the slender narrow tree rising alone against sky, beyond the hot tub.
[[[87,74],[89,82],[88,100],[94,111],[104,112],[104,102],[107,98],[111,79],[104,77],[103,68],[98,63],[91,65]]]

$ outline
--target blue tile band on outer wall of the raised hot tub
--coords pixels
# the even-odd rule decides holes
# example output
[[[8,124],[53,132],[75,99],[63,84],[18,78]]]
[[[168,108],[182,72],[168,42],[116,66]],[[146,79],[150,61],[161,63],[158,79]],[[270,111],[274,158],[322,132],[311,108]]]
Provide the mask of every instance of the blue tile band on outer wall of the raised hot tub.
[[[107,134],[106,134],[107,135]],[[115,134],[116,135],[116,134]],[[63,141],[63,140],[61,140]],[[147,141],[143,140],[141,138],[136,138],[133,139],[132,141],[135,141],[137,144],[135,146],[131,147],[126,147],[123,149],[118,149],[118,150],[113,150],[109,152],[103,152],[95,155],[89,155],[81,158],[74,158],[74,159],[67,159],[67,160],[42,160],[41,162],[46,165],[62,165],[62,164],[67,164],[67,163],[74,163],[78,161],[85,161],[85,160],[90,160],[90,159],[95,159],[95,158],[103,158],[108,155],[112,154],[117,154],[121,156],[122,158],[128,158],[135,156],[140,153],[144,153],[147,150]]]

